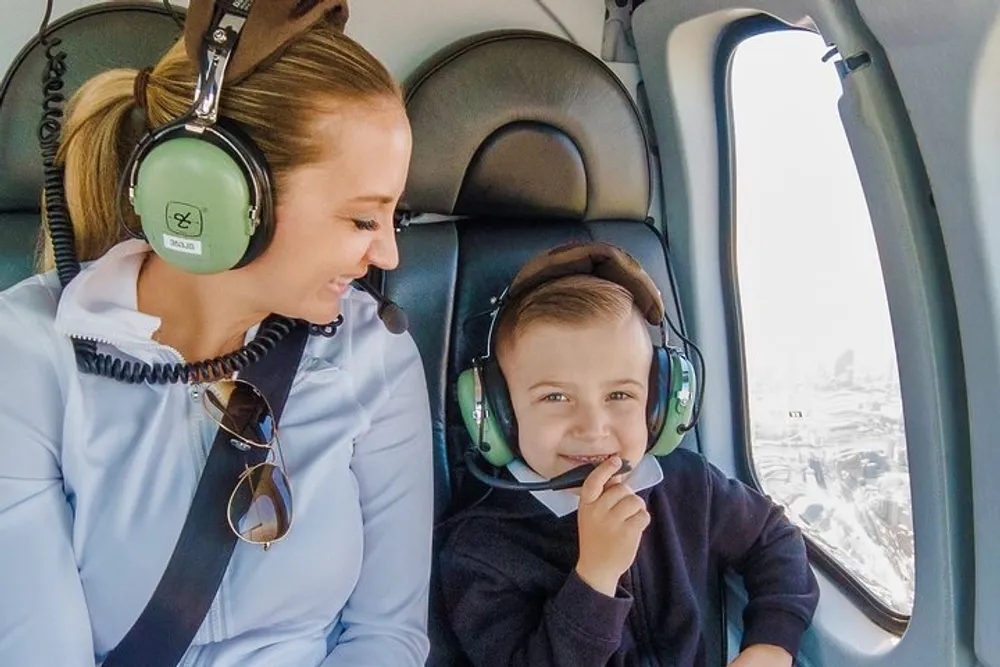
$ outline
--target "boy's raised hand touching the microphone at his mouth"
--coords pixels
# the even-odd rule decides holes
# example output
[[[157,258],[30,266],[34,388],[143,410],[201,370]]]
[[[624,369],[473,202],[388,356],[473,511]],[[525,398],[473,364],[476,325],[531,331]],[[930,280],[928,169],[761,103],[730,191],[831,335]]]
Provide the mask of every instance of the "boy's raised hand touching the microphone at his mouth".
[[[594,590],[614,597],[618,579],[635,560],[649,525],[646,503],[625,484],[612,482],[621,459],[605,460],[580,489],[580,557],[576,573]]]

